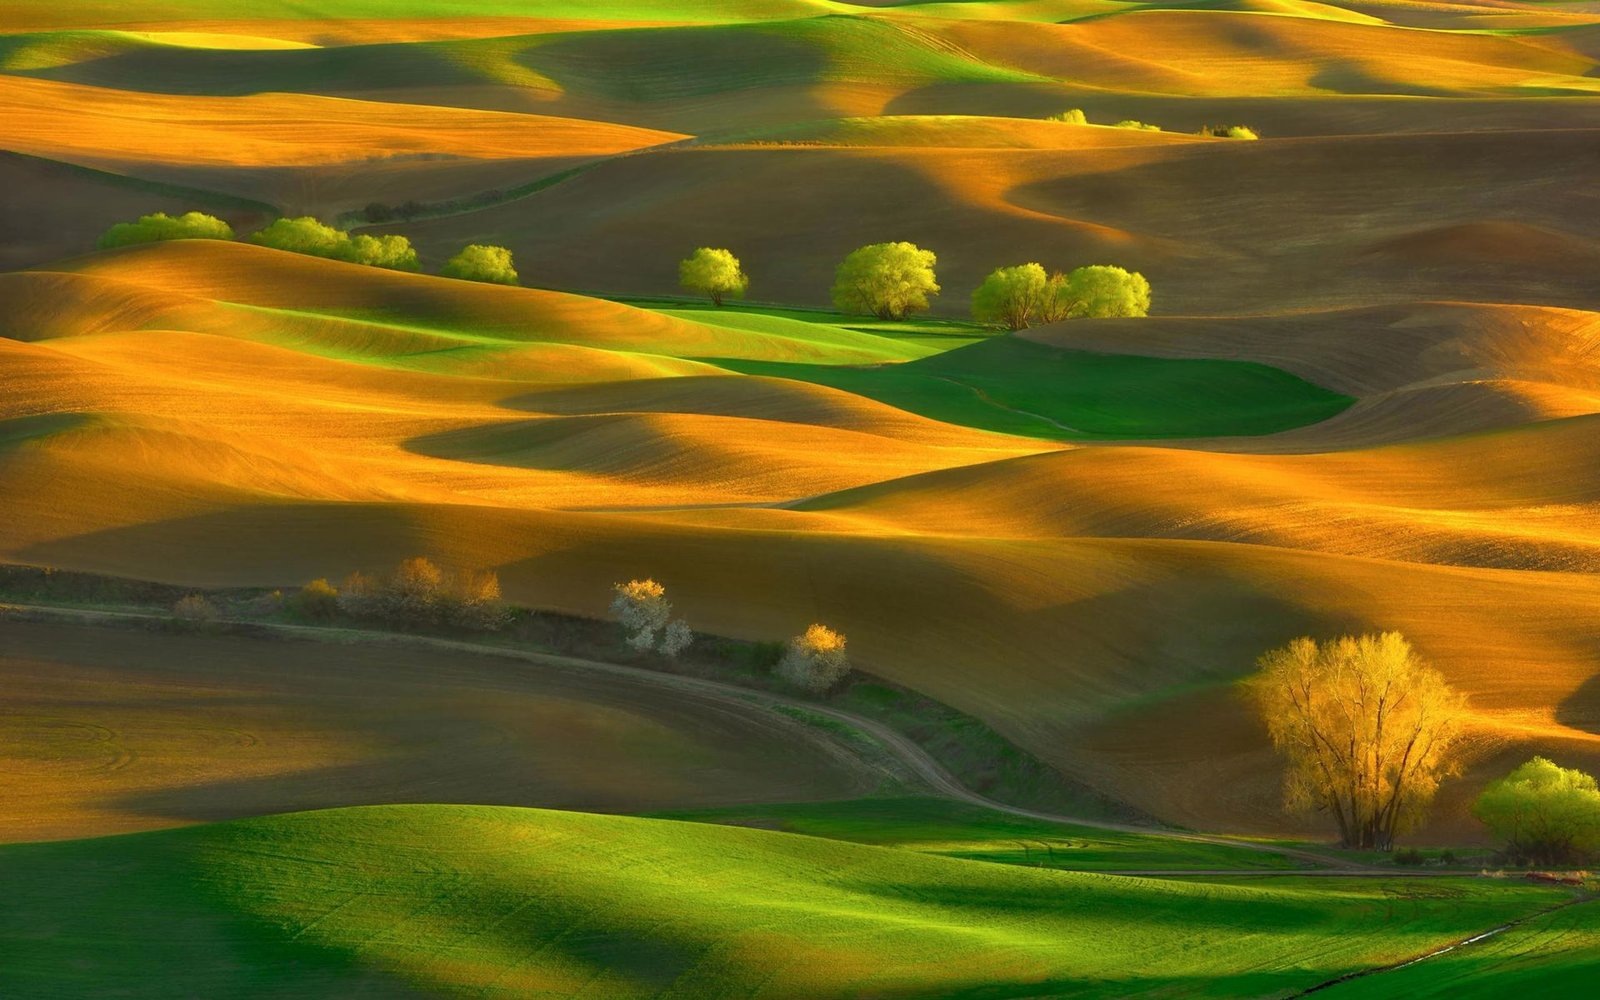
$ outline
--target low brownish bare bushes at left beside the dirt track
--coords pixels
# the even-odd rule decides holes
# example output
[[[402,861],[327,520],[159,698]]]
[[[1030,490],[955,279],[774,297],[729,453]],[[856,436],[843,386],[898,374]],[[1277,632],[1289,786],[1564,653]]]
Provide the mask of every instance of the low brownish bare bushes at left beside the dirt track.
[[[414,557],[387,573],[352,573],[339,587],[314,579],[294,595],[307,618],[338,614],[390,627],[451,627],[491,632],[506,624],[499,576],[493,571],[446,573],[432,560]]]

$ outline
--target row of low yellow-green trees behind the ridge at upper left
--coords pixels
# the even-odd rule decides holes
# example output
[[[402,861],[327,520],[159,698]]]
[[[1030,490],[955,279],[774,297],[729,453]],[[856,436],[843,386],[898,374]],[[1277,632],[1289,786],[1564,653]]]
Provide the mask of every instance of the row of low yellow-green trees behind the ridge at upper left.
[[[131,246],[134,243],[157,243],[162,240],[232,240],[234,227],[198,211],[170,216],[154,213],[141,216],[136,222],[117,222],[99,238],[101,250],[115,246]],[[421,261],[411,240],[403,235],[355,235],[326,226],[310,216],[298,219],[274,219],[262,229],[246,237],[258,246],[270,246],[288,253],[302,253],[330,261],[347,264],[365,264],[368,267],[384,267],[389,270],[421,270]],[[464,246],[453,258],[445,261],[438,272],[446,278],[467,282],[490,282],[494,285],[517,285],[517,269],[512,264],[510,251],[504,246],[486,246],[472,243]]]

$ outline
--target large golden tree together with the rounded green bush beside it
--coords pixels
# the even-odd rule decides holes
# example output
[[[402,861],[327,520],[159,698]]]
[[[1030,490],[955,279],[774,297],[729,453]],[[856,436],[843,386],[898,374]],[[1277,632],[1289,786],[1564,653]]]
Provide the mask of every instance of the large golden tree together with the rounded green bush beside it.
[[[1285,800],[1333,818],[1347,848],[1392,850],[1459,773],[1466,699],[1397,632],[1296,638],[1261,658],[1250,691],[1283,755]],[[1600,789],[1534,757],[1472,806],[1512,862],[1600,856]]]

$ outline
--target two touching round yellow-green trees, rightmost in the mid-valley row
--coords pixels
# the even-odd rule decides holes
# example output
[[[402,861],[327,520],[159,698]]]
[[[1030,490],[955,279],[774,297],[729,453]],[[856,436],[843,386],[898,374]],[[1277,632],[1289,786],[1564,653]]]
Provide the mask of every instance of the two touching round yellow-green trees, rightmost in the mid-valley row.
[[[1045,274],[1040,264],[998,267],[973,291],[979,323],[1027,330],[1069,317],[1136,317],[1150,312],[1150,283],[1142,274],[1091,264],[1070,274]]]

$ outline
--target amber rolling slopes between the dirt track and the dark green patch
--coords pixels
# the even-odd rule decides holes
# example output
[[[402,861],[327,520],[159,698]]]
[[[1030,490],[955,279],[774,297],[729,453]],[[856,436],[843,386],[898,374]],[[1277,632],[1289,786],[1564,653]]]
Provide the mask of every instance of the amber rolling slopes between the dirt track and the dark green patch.
[[[862,667],[1214,829],[1283,829],[1229,683],[1298,634],[1402,629],[1467,691],[1480,754],[1600,763],[1600,578],[1573,571],[1600,552],[1594,418],[1331,454],[1037,454],[653,355],[794,347],[582,296],[214,243],[0,283],[5,558],[293,586],[427,552],[586,614],[651,574],[710,632],[840,627]],[[1562,352],[1587,322],[1435,304],[1035,336],[1128,330],[1379,397],[1477,371],[1578,400],[1590,376]],[[470,330],[504,368],[429,360],[477,350],[451,339]],[[541,371],[552,349],[568,365]],[[1451,800],[1440,829],[1461,819]]]

